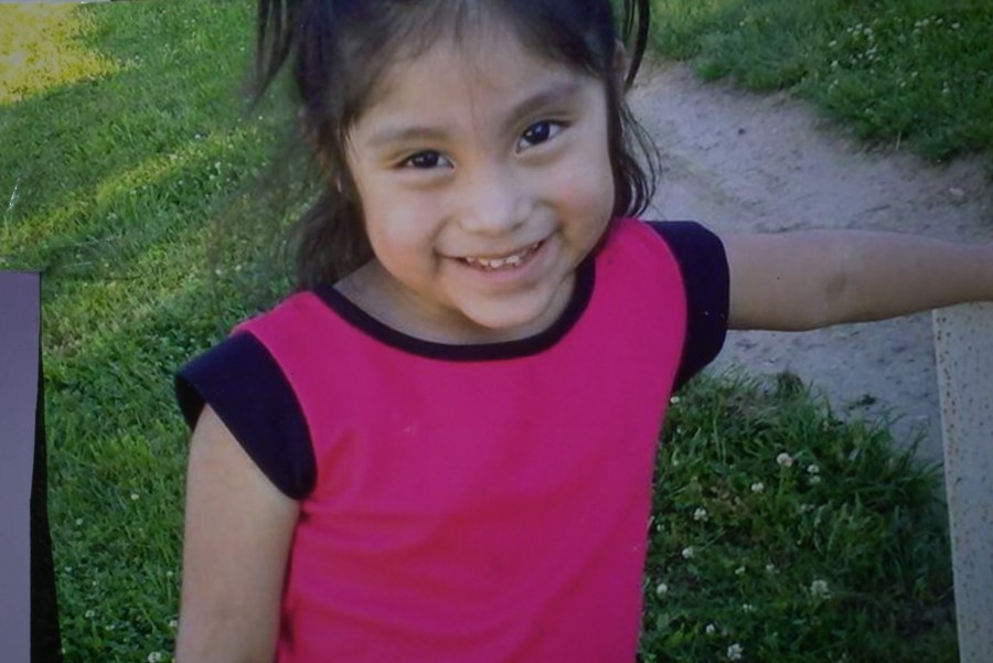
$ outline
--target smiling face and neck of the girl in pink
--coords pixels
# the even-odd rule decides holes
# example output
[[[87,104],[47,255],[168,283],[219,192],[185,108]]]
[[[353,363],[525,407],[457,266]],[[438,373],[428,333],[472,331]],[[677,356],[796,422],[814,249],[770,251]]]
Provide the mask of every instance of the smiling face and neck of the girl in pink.
[[[339,284],[448,343],[549,327],[613,206],[604,83],[509,31],[439,40],[387,72],[349,136],[375,259]]]

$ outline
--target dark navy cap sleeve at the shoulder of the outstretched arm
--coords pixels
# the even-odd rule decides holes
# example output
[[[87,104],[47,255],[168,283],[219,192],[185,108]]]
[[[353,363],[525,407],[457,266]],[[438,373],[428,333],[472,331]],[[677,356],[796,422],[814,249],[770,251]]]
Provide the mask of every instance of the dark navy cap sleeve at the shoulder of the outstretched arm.
[[[720,238],[694,222],[650,222],[675,256],[686,292],[686,342],[673,391],[700,373],[727,334],[729,275]]]

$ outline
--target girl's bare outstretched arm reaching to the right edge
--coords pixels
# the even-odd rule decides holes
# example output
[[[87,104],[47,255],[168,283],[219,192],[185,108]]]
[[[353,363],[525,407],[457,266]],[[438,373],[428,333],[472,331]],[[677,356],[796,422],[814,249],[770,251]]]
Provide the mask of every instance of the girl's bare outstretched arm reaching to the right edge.
[[[862,231],[722,240],[733,329],[802,331],[993,301],[993,245]]]

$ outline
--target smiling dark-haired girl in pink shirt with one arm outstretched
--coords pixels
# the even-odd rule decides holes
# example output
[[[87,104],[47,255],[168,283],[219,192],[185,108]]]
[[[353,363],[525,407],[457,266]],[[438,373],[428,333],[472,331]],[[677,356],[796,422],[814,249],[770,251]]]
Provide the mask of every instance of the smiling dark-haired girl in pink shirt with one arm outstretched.
[[[725,330],[993,299],[993,247],[634,220],[610,0],[259,17],[328,185],[299,291],[178,377],[182,663],[630,663],[659,427]]]

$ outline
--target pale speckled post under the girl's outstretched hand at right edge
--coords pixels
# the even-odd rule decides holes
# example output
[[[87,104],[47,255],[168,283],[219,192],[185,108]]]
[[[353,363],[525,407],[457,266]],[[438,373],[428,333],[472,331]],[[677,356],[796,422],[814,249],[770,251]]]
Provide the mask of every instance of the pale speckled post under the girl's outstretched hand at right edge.
[[[935,312],[962,663],[993,661],[993,304]]]

